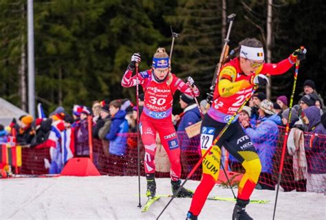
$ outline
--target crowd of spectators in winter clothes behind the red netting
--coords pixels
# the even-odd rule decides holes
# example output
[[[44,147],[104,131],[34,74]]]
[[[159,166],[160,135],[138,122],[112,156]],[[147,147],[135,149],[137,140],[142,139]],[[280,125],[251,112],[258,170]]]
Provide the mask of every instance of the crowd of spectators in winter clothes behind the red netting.
[[[261,159],[260,179],[263,181],[257,184],[258,189],[275,188],[273,174],[278,172],[279,166],[279,158],[275,158],[275,154],[278,144],[283,143],[280,138],[284,137],[284,129],[280,128],[289,123],[286,145],[287,154],[292,157],[289,169],[292,181],[305,184],[309,192],[326,193],[325,104],[312,80],[305,81],[299,96],[298,104],[289,109],[286,96],[279,96],[272,102],[263,92],[257,92],[239,113],[238,120]],[[138,132],[138,113],[142,113],[144,106],[144,94],[138,98],[139,109],[129,99],[101,100],[95,101],[91,109],[76,104],[71,110],[57,107],[48,117],[39,115],[34,119],[31,115],[23,115],[18,120],[12,120],[8,126],[0,124],[0,143],[8,142],[12,131],[17,131],[17,144],[35,149],[49,148],[51,158],[45,164],[50,174],[61,173],[72,157],[89,157],[89,138],[101,140],[106,154],[124,159],[131,142],[128,133]],[[202,120],[202,115],[208,111],[207,102],[202,100],[198,106],[192,96],[182,94],[179,104],[183,111],[173,115],[172,120],[180,138],[180,147],[186,155],[199,159],[199,136],[189,138],[185,130]],[[160,147],[158,135],[156,142],[157,163],[161,164],[157,166],[157,171],[169,172],[169,159],[164,148]],[[188,164],[187,157],[184,158],[182,168],[190,172],[193,164]],[[235,157],[229,155],[228,161],[231,170],[241,170],[241,164]],[[284,185],[284,190],[293,189],[296,188]]]

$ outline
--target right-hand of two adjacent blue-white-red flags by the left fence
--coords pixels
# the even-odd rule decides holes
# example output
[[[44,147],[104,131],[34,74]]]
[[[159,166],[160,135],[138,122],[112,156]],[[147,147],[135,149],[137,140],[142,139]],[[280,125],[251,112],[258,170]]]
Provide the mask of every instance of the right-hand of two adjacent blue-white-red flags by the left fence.
[[[65,129],[61,132],[61,152],[63,164],[74,157],[74,128]]]

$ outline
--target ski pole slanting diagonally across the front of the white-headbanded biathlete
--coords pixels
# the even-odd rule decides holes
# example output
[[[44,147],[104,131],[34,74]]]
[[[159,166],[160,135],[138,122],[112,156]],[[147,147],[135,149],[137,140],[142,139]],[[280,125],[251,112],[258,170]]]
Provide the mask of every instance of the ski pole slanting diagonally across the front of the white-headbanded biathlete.
[[[210,145],[210,147],[207,149],[206,153],[204,153],[204,155],[199,159],[199,161],[197,162],[197,164],[195,164],[195,166],[193,167],[193,169],[191,170],[191,172],[187,175],[186,179],[184,179],[184,182],[180,185],[180,187],[177,189],[177,191],[172,195],[170,201],[163,208],[162,212],[157,216],[156,220],[159,219],[160,216],[163,214],[163,212],[166,210],[166,208],[168,208],[168,206],[170,205],[170,203],[175,198],[175,195],[178,195],[179,194],[179,192],[182,189],[182,187],[184,186],[184,184],[186,184],[186,181],[188,181],[191,178],[191,176],[193,175],[193,173],[195,173],[195,171],[197,170],[197,168],[202,163],[203,159],[206,157],[206,155],[208,155],[208,153],[210,153],[210,150],[213,148],[213,146],[215,146],[217,144],[217,142],[219,141],[219,138],[221,138],[221,136],[224,135],[224,133],[226,132],[226,130],[228,129],[228,127],[230,126],[230,124],[232,123],[232,121],[235,120],[235,117],[237,117],[237,114],[242,110],[242,108],[250,100],[250,98],[252,97],[252,95],[255,93],[256,90],[257,90],[257,86],[254,86],[254,88],[251,91],[250,96],[248,96],[246,98],[246,100],[244,100],[244,102],[241,104],[241,106],[239,107],[239,109],[232,115],[232,117],[230,118],[230,120],[228,120],[228,122],[226,123],[226,125],[224,126],[224,128],[221,130],[221,132],[219,133],[219,135],[217,135],[217,137],[213,141],[213,144]]]

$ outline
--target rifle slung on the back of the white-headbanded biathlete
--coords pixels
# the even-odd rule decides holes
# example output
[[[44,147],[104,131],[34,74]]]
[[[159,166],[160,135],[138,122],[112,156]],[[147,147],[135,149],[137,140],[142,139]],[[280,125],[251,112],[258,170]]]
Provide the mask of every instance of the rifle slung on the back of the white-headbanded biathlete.
[[[213,94],[214,94],[214,90],[215,90],[215,85],[217,83],[217,80],[219,78],[219,72],[221,71],[221,66],[226,58],[226,56],[228,55],[228,42],[230,41],[230,32],[231,32],[231,28],[232,28],[232,24],[233,21],[235,21],[235,16],[236,14],[230,14],[228,16],[228,33],[226,34],[226,39],[224,39],[224,46],[221,52],[221,56],[219,56],[219,63],[217,63],[216,67],[215,67],[215,72],[214,72],[214,77],[212,80],[212,83],[210,85],[210,92],[207,93],[207,106],[206,109],[208,109],[210,107],[210,102],[213,101]]]

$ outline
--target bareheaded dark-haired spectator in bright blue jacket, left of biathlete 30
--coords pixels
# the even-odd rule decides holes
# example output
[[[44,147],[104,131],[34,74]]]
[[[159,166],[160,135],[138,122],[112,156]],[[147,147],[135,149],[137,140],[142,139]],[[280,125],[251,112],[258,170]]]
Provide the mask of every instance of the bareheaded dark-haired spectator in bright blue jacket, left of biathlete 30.
[[[121,110],[121,101],[113,100],[109,104],[111,115],[110,131],[105,138],[109,140],[109,153],[112,155],[124,156],[127,151],[127,135],[129,126],[126,116],[126,111]]]

